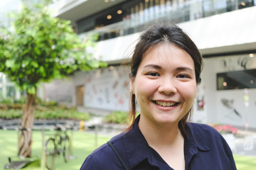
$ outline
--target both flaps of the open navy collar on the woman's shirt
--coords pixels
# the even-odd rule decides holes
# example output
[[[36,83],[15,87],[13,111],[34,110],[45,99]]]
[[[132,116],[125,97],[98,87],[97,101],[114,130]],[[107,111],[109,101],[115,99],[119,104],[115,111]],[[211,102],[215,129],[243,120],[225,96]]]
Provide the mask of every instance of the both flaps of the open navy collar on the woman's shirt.
[[[131,130],[124,135],[124,149],[127,154],[129,166],[133,169],[137,164],[143,162],[145,159],[147,159],[149,164],[152,166],[159,166],[157,162],[152,162],[153,156],[151,147],[149,147],[146,139],[142,135],[142,132],[139,130],[139,118],[140,115],[137,116]],[[198,130],[192,128],[191,123],[187,123],[186,132],[184,154],[186,164],[188,164],[193,155],[197,154],[198,151],[206,152],[210,150],[210,148],[208,147],[207,142],[203,140],[203,137],[201,137]]]

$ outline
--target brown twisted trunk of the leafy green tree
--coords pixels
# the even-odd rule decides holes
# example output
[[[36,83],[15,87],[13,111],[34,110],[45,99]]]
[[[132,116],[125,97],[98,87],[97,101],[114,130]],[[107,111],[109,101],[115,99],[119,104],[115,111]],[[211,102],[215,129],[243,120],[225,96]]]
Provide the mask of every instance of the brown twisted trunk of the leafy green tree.
[[[18,132],[18,157],[31,157],[32,128],[36,108],[36,94],[28,94],[26,106],[21,120],[21,130]]]

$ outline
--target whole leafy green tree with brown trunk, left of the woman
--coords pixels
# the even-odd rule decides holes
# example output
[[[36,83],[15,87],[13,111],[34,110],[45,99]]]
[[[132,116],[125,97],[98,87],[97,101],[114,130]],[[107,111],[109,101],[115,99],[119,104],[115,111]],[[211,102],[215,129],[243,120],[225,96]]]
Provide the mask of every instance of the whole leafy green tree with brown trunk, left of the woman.
[[[13,31],[0,33],[0,72],[27,94],[26,106],[18,136],[18,156],[31,157],[31,136],[36,105],[36,89],[42,82],[59,79],[77,70],[90,71],[105,67],[95,60],[88,47],[95,42],[82,42],[70,21],[50,16],[47,8],[23,9],[14,16]]]

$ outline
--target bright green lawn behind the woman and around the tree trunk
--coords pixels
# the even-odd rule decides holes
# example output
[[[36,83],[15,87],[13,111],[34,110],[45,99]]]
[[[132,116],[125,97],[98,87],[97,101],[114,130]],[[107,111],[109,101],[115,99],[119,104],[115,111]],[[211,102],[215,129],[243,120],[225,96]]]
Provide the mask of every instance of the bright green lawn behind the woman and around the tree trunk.
[[[4,169],[4,164],[8,163],[7,157],[16,157],[17,154],[17,134],[15,130],[0,130],[0,169]],[[48,135],[48,132],[46,132]],[[47,136],[46,136],[47,137]],[[70,170],[80,169],[82,162],[88,154],[95,149],[95,135],[87,132],[73,132],[73,155],[75,159],[70,159],[65,163],[63,157],[58,156],[55,159],[55,170]],[[110,140],[110,137],[99,135],[97,140],[97,147]],[[33,132],[33,157],[42,157],[42,133],[41,131]],[[245,157],[234,155],[238,170],[253,170],[256,167],[255,157]],[[41,167],[26,168],[33,170],[40,170]]]

